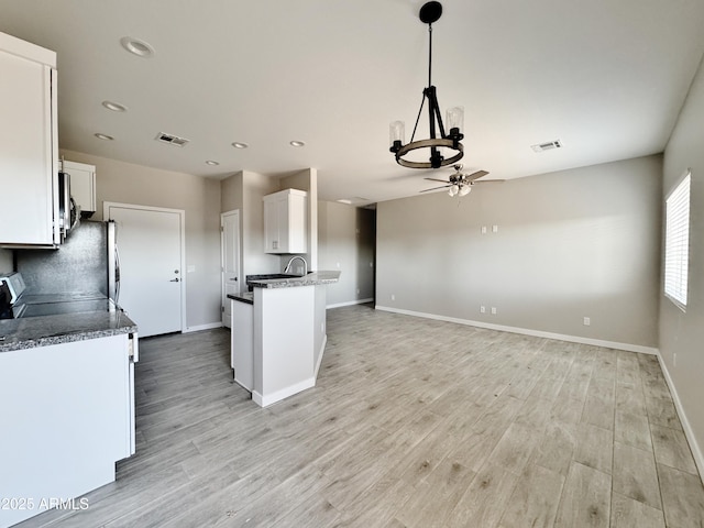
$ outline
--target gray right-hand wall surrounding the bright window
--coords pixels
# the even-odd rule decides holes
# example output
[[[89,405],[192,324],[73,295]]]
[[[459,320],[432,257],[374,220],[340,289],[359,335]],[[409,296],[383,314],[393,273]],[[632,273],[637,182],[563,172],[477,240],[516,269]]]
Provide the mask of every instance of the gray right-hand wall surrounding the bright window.
[[[664,152],[663,190],[667,195],[683,172],[692,169],[690,202],[690,275],[686,312],[662,296],[660,300],[660,354],[675,387],[675,399],[685,415],[690,443],[704,473],[704,67],[690,89]],[[676,354],[676,361],[675,361]]]

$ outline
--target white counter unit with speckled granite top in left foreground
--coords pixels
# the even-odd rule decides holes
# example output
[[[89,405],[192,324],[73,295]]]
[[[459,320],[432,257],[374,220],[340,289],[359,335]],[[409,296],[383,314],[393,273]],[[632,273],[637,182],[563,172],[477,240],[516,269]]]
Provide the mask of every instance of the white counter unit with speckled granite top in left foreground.
[[[136,331],[117,307],[0,320],[0,527],[89,507],[134,453]]]

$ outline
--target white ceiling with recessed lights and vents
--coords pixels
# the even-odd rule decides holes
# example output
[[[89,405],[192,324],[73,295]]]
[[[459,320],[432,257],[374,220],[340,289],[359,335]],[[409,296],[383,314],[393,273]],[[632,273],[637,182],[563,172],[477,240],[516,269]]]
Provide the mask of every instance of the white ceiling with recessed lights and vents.
[[[427,86],[422,3],[0,0],[0,31],[57,52],[63,148],[216,178],[315,167],[320,199],[366,205],[452,173],[388,152],[389,122],[408,141]],[[462,163],[485,179],[662,152],[704,53],[702,0],[442,3],[432,80],[443,112],[464,107]],[[154,55],[128,53],[123,36]]]

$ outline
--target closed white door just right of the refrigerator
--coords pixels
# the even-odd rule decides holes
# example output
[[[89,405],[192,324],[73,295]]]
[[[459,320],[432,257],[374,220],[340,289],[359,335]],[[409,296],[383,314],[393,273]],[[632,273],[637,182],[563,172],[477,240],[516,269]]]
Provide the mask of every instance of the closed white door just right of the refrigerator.
[[[118,304],[140,337],[182,331],[184,211],[106,202],[105,218],[117,224]]]

